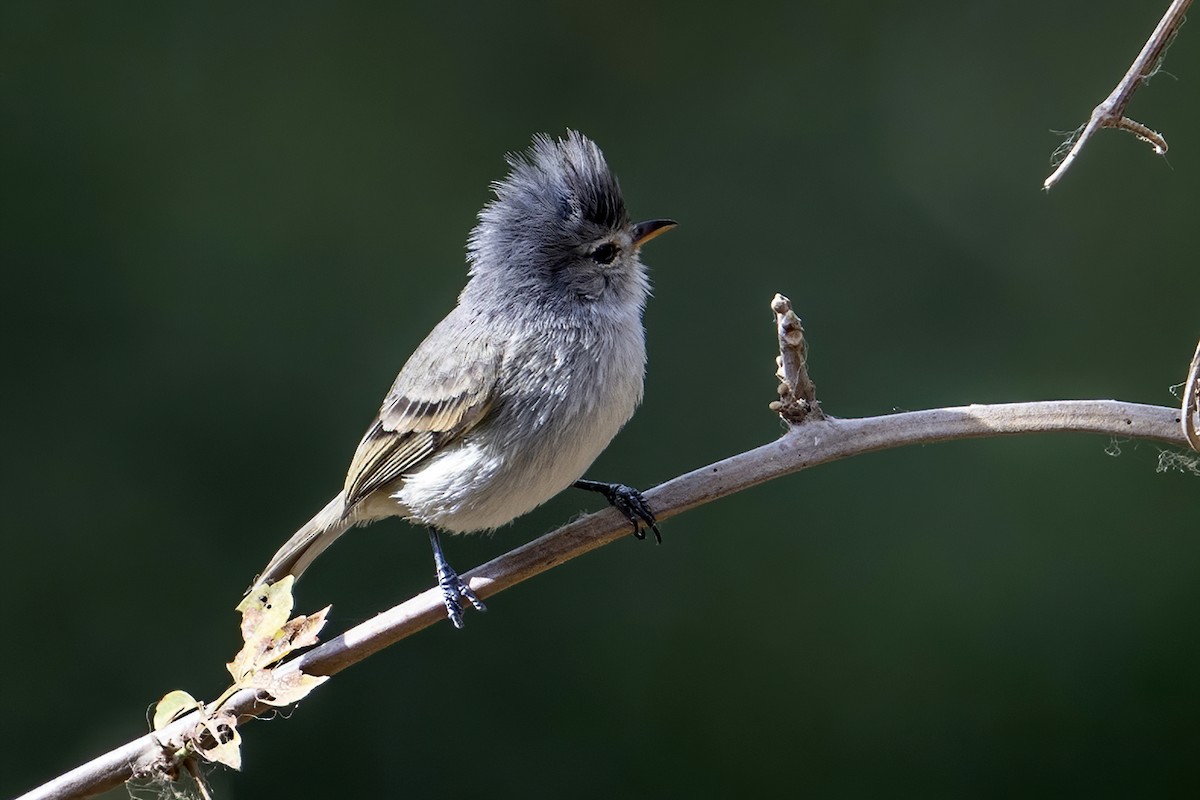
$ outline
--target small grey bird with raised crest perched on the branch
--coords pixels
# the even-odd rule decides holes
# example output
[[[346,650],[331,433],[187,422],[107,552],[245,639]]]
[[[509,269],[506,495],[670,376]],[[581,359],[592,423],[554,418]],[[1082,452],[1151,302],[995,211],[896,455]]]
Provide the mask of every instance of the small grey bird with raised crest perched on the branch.
[[[346,486],[288,540],[256,585],[299,577],[352,527],[428,528],[446,613],[484,604],[438,531],[505,525],[569,486],[601,493],[656,539],[642,495],[580,480],[642,401],[649,294],[638,248],[674,227],[631,224],[617,179],[584,136],[536,136],[479,212],[458,305],[408,359],[350,462]]]

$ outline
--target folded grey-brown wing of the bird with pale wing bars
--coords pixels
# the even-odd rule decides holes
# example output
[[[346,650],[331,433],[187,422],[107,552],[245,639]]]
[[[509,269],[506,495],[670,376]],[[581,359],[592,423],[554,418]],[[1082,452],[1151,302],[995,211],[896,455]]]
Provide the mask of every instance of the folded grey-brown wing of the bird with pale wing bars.
[[[359,443],[346,475],[346,509],[413,471],[492,408],[500,353],[479,335],[478,320],[455,324],[454,317],[413,353]]]

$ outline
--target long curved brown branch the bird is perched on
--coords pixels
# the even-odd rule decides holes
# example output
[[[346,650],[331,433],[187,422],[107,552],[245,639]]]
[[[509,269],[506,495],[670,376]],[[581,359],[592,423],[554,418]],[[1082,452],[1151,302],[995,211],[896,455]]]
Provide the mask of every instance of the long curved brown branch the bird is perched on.
[[[770,444],[680,475],[646,493],[659,519],[728,497],[769,480],[832,461],[904,445],[1052,431],[1148,439],[1186,447],[1180,409],[1120,401],[1051,401],[964,405],[854,420],[823,419],[792,426]],[[589,515],[472,570],[463,577],[488,597],[578,555],[628,535],[612,509]],[[332,675],[400,639],[445,620],[438,589],[430,589],[278,668]],[[244,717],[266,710],[244,691],[224,706]],[[158,734],[136,739],[19,800],[85,798],[131,777],[162,770],[160,742],[196,724],[188,715]]]

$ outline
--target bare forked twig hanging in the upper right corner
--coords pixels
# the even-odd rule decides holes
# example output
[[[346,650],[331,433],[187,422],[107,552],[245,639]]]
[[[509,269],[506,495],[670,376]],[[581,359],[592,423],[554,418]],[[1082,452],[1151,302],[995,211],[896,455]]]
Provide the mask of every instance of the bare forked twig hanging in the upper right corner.
[[[1057,169],[1050,174],[1050,178],[1045,179],[1042,184],[1042,188],[1050,190],[1055,184],[1062,180],[1062,176],[1070,169],[1072,163],[1074,163],[1076,156],[1079,156],[1080,150],[1087,144],[1087,140],[1099,131],[1100,128],[1121,128],[1123,131],[1129,131],[1134,133],[1139,139],[1148,142],[1154,148],[1154,152],[1159,156],[1166,152],[1166,139],[1156,131],[1151,131],[1148,127],[1140,122],[1135,122],[1124,115],[1126,106],[1129,104],[1129,100],[1133,94],[1138,91],[1141,83],[1148,78],[1158,68],[1159,62],[1163,60],[1163,54],[1166,52],[1166,47],[1171,43],[1175,34],[1178,32],[1180,26],[1183,24],[1183,17],[1187,13],[1188,6],[1192,5],[1192,0],[1172,0],[1171,6],[1163,14],[1163,18],[1158,20],[1158,26],[1154,28],[1154,32],[1150,35],[1146,40],[1145,47],[1141,48],[1141,53],[1134,59],[1133,64],[1129,65],[1129,71],[1126,72],[1124,78],[1117,84],[1116,89],[1112,90],[1103,103],[1097,106],[1092,110],[1092,116],[1087,120],[1087,124],[1072,134],[1066,143],[1068,146],[1067,155],[1061,162],[1058,162]],[[1056,151],[1057,152],[1057,151]]]

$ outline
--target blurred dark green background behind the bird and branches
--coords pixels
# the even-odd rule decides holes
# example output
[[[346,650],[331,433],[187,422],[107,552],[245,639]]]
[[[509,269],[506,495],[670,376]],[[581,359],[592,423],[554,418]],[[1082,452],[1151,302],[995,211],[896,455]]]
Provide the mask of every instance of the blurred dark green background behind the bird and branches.
[[[503,154],[594,137],[646,251],[646,403],[592,476],[778,435],[768,302],[834,415],[1172,404],[1200,332],[1200,31],[1049,196],[1166,2],[6,4],[0,795],[211,698],[233,606],[452,306]],[[1102,437],[884,452],[672,519],[246,730],[220,798],[1195,795],[1198,479]],[[566,493],[469,569],[583,510]],[[331,631],[422,533],[300,587]],[[114,798],[124,796],[116,792]]]

